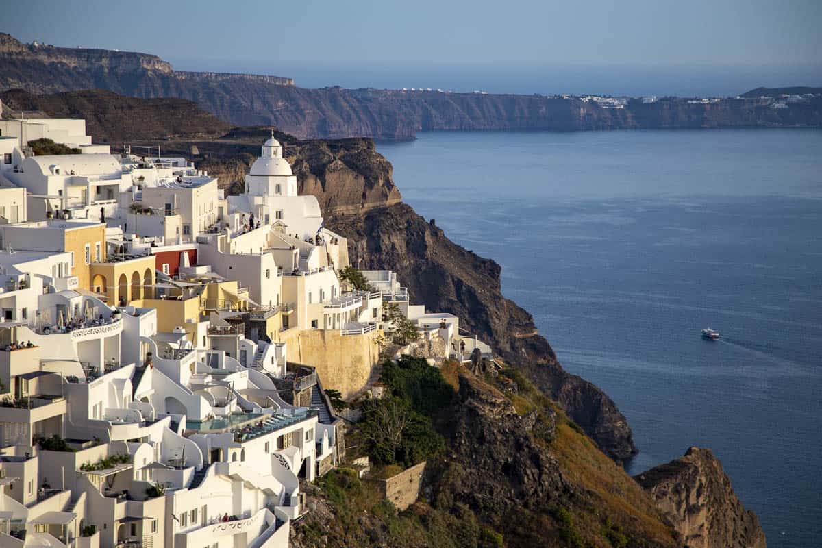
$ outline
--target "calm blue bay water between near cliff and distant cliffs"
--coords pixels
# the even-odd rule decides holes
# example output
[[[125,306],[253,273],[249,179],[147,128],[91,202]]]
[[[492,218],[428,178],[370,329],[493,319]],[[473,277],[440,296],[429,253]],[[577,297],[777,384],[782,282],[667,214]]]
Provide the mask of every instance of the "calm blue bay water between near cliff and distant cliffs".
[[[422,133],[378,150],[617,402],[630,473],[709,447],[769,546],[819,546],[822,131]]]

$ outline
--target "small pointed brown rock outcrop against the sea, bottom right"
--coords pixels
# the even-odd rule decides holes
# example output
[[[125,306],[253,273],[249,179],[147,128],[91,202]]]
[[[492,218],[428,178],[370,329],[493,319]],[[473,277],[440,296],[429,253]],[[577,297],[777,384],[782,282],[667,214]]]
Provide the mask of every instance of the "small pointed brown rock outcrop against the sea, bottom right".
[[[765,548],[756,514],[742,506],[709,449],[691,447],[684,457],[635,479],[688,548]]]

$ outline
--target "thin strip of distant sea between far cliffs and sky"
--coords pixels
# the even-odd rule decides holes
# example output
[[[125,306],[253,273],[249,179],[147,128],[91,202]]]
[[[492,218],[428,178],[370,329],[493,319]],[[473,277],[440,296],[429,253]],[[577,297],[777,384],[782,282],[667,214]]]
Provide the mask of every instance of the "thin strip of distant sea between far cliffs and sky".
[[[325,62],[169,58],[178,71],[247,72],[295,85],[348,89],[432,88],[460,93],[734,97],[758,87],[822,86],[822,63],[560,64]]]

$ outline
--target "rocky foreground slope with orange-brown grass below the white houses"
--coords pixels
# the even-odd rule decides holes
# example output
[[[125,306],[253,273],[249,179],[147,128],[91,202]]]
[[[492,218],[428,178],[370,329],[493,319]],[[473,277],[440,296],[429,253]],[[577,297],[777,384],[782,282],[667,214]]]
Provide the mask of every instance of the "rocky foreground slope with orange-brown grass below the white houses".
[[[420,500],[395,515],[367,481],[333,472],[291,546],[677,546],[649,495],[527,381],[517,394],[464,368],[452,381]]]

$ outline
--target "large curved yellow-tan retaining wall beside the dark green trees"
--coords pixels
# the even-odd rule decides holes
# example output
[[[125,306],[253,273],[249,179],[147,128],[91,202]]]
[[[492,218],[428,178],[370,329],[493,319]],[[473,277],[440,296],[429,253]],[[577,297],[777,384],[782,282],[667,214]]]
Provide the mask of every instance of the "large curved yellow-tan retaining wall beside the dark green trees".
[[[335,329],[294,331],[283,337],[289,345],[289,361],[315,367],[323,388],[339,390],[343,398],[363,389],[379,360],[378,331],[364,335],[341,335]]]

